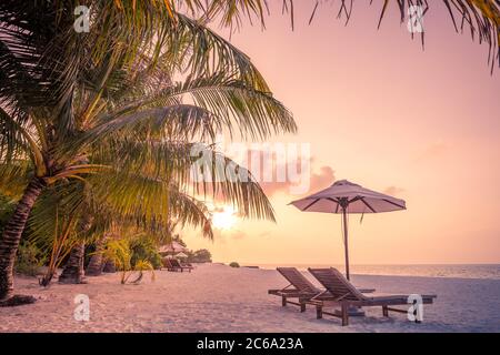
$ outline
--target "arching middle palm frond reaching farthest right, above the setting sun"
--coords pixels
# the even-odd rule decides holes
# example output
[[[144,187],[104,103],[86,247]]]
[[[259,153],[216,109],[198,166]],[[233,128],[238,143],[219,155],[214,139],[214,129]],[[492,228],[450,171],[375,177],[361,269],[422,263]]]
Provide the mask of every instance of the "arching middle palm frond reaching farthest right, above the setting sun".
[[[194,104],[161,106],[176,102],[176,99],[192,100]],[[167,138],[210,140],[222,129],[231,133],[238,130],[241,136],[251,139],[297,131],[291,113],[270,93],[221,74],[177,83],[152,98],[104,114],[99,121],[100,124],[84,133],[77,144],[79,148],[113,133],[122,134],[123,130],[136,132],[139,128],[164,132]]]

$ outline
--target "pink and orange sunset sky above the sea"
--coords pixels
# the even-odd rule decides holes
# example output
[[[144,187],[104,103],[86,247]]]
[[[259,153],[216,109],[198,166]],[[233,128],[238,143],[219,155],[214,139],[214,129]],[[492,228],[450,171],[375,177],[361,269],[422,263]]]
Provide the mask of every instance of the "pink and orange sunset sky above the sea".
[[[456,33],[441,3],[423,19],[424,50],[394,4],[380,30],[380,7],[356,2],[346,27],[334,4],[308,26],[313,1],[297,1],[293,31],[271,7],[266,30],[231,36],[293,113],[299,132],[268,143],[309,146],[309,190],[264,184],[277,223],[181,236],[216,262],[342,264],[340,215],[288,203],[348,179],[408,207],[350,217],[352,264],[500,263],[500,69],[490,74],[488,45]]]

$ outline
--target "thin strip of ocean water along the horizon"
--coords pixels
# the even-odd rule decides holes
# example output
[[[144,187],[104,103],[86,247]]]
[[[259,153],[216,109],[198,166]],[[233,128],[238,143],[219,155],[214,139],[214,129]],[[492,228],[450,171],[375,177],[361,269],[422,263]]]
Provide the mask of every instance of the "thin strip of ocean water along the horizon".
[[[343,265],[306,265],[306,264],[256,264],[260,268],[294,266],[299,270],[308,267],[336,267],[343,272]],[[351,274],[362,275],[400,275],[427,277],[489,278],[500,280],[500,264],[439,264],[439,265],[351,265]]]

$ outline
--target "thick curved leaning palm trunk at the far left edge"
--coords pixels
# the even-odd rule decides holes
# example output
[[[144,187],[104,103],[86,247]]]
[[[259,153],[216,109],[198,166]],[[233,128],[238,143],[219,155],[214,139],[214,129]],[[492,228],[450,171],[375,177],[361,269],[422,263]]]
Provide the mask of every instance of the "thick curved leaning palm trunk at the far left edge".
[[[33,178],[30,181],[3,230],[0,239],[0,302],[13,295],[13,265],[19,242],[34,202],[44,187],[43,179]]]

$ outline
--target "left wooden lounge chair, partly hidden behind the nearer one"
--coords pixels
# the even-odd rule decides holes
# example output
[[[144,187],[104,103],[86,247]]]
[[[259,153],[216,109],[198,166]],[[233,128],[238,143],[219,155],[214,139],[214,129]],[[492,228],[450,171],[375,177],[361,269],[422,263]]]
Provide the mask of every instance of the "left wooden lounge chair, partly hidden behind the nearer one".
[[[271,295],[281,297],[281,305],[284,307],[287,304],[293,304],[300,306],[300,312],[306,311],[306,302],[314,296],[321,298],[320,294],[324,293],[323,290],[314,286],[300,271],[296,267],[278,267],[277,271],[290,283],[288,286],[280,290],[269,290]],[[292,288],[290,288],[292,287]],[[362,292],[369,293],[374,290],[362,290]],[[288,298],[297,298],[298,302],[289,301]]]

